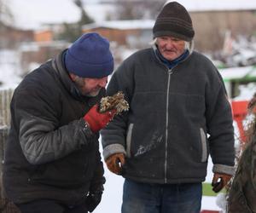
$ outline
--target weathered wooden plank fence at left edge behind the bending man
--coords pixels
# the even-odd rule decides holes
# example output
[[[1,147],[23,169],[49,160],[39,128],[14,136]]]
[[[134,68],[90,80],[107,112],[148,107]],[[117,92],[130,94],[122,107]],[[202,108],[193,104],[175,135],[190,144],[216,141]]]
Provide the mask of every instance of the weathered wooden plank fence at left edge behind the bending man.
[[[4,147],[10,127],[9,104],[13,93],[13,89],[0,90],[0,213],[20,213],[20,210],[4,197],[2,179]]]

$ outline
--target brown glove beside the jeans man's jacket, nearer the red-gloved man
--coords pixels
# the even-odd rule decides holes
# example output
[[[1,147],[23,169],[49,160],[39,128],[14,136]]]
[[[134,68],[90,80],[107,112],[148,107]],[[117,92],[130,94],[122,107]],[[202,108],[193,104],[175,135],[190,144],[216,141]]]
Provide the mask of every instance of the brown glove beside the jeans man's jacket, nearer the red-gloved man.
[[[108,170],[112,171],[116,175],[121,175],[123,171],[123,165],[125,164],[125,154],[115,153],[110,155],[106,159]]]

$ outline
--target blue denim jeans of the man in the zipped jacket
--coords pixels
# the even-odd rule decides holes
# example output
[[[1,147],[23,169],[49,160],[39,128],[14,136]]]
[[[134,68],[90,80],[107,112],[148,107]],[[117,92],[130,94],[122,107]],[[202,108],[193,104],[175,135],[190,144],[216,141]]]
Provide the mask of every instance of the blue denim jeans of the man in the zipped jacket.
[[[122,213],[199,213],[201,183],[147,184],[125,179]]]

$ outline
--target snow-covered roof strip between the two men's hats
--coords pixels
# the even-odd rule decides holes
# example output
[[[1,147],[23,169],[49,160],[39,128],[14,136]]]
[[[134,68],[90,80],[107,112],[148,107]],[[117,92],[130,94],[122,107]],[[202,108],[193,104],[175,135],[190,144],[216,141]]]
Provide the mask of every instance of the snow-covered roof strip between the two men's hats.
[[[154,22],[155,20],[109,20],[84,25],[84,29],[91,29],[96,27],[107,27],[119,30],[152,29]]]

